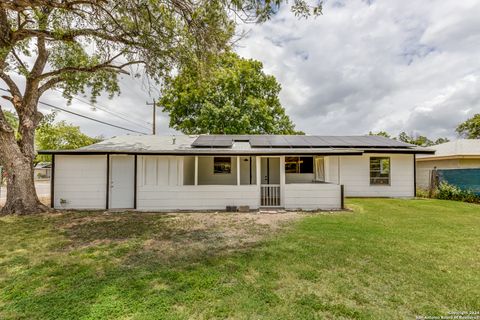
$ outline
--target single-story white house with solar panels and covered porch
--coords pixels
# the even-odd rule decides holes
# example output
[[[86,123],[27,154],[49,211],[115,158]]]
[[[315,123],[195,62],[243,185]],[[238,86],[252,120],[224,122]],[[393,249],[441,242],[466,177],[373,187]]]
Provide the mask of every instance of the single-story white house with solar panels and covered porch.
[[[340,209],[415,195],[415,155],[379,136],[123,136],[52,154],[52,204],[72,209]]]

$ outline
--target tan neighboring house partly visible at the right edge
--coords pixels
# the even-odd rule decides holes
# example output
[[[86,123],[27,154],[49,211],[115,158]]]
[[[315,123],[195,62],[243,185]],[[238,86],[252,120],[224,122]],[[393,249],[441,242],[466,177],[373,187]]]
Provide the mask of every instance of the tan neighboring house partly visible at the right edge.
[[[437,169],[480,168],[480,139],[460,139],[430,147],[435,154],[417,157],[417,186],[428,189],[431,172]]]

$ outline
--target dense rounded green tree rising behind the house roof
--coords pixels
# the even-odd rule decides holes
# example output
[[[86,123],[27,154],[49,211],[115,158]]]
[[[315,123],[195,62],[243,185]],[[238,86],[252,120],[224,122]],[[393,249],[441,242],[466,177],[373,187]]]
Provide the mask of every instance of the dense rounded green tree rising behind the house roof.
[[[186,66],[167,82],[159,103],[170,127],[185,134],[293,134],[280,84],[259,61],[235,53],[218,57],[207,76]]]

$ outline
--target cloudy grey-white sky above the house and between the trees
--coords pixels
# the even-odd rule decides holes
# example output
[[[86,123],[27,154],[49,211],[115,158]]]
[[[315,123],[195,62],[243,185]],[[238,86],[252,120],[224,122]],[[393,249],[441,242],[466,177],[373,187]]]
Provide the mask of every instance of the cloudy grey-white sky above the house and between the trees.
[[[262,25],[247,25],[236,51],[263,62],[282,85],[281,101],[307,134],[406,131],[455,137],[458,123],[480,113],[480,0],[325,1],[324,14],[299,20],[287,8]],[[74,100],[70,108],[147,132],[150,94],[122,80],[122,95],[99,105],[126,122]],[[59,106],[57,94],[45,97]],[[44,109],[45,110],[45,109]],[[59,115],[90,135],[127,132]],[[141,126],[142,125],[142,126]],[[159,113],[158,133],[172,134]]]

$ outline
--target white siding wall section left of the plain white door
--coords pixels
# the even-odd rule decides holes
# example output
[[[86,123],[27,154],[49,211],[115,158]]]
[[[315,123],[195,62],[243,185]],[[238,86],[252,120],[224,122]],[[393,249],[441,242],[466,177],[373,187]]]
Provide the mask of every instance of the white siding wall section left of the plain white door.
[[[55,208],[105,209],[107,156],[56,155],[54,179]]]

